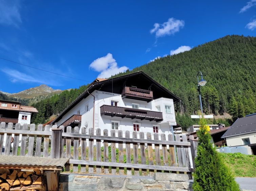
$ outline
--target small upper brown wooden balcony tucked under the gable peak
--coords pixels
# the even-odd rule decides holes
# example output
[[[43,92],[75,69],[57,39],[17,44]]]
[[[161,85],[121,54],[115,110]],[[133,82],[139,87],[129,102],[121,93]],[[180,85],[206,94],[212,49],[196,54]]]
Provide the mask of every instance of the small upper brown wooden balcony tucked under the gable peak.
[[[153,100],[153,91],[125,86],[123,88],[122,98],[150,102]]]

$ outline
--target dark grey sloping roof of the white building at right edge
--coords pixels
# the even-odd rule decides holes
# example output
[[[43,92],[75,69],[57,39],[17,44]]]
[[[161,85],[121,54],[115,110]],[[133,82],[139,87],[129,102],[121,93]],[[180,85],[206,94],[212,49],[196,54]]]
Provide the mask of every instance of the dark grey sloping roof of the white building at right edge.
[[[256,132],[256,113],[238,118],[221,138]]]

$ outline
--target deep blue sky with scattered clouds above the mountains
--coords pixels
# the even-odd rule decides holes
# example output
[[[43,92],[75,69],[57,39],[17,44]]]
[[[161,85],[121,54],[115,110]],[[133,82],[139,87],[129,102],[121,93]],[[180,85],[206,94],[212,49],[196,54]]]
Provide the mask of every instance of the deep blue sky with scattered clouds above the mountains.
[[[0,90],[76,88],[229,34],[255,36],[256,0],[0,0]]]

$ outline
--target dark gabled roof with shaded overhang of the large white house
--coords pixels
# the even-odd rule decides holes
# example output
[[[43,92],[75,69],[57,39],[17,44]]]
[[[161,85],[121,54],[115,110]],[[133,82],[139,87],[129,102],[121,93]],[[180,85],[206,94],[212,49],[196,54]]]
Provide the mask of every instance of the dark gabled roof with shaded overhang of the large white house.
[[[113,85],[114,84],[114,85]],[[157,98],[171,98],[174,103],[180,101],[175,94],[170,92],[168,89],[163,87],[161,84],[153,80],[151,77],[146,75],[144,72],[139,71],[131,74],[126,74],[119,77],[114,77],[110,79],[100,79],[94,80],[89,87],[77,98],[75,99],[66,109],[64,109],[53,121],[52,123],[58,121],[64,114],[66,114],[70,109],[72,109],[78,102],[86,98],[89,93],[94,90],[101,90],[106,92],[113,92],[121,94],[124,86],[137,86],[138,88],[144,89],[145,87],[150,88],[153,91],[154,99]]]

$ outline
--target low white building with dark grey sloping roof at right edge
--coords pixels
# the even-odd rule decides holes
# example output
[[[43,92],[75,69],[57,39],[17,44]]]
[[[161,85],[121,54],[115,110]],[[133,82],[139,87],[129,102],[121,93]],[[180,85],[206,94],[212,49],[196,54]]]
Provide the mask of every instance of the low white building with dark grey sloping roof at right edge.
[[[238,118],[221,138],[229,147],[244,147],[249,155],[256,155],[256,113]]]

